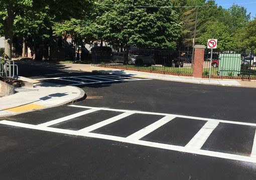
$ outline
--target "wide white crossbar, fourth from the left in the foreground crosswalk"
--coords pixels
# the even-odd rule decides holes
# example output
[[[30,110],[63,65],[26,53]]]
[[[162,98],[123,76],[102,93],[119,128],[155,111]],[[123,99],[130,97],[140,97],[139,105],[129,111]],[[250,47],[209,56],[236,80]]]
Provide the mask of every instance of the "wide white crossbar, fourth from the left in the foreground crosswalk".
[[[200,149],[212,131],[218,126],[218,121],[208,121],[204,126],[197,132],[197,134],[187,143],[185,146],[188,149]]]

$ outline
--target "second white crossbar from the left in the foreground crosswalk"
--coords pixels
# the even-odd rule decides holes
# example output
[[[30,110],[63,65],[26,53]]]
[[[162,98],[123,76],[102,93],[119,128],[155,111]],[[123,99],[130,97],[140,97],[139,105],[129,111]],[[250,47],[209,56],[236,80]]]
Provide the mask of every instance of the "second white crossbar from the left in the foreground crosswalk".
[[[110,123],[112,123],[112,122],[115,122],[115,121],[117,121],[117,120],[120,120],[120,119],[122,119],[122,118],[124,118],[124,117],[130,116],[130,115],[132,115],[132,114],[134,114],[134,113],[131,113],[131,112],[124,112],[124,113],[119,114],[119,115],[117,115],[117,116],[114,116],[114,117],[111,117],[111,118],[106,119],[106,120],[104,120],[104,121],[101,121],[101,122],[98,122],[98,123],[96,123],[96,124],[93,124],[93,125],[91,125],[91,126],[89,126],[89,127],[85,127],[85,128],[83,128],[83,129],[80,129],[79,131],[81,131],[81,132],[90,132],[90,131],[93,131],[93,130],[98,129],[98,128],[100,128],[100,127],[103,127],[103,126],[105,126],[105,125],[107,125],[107,124],[110,124]]]

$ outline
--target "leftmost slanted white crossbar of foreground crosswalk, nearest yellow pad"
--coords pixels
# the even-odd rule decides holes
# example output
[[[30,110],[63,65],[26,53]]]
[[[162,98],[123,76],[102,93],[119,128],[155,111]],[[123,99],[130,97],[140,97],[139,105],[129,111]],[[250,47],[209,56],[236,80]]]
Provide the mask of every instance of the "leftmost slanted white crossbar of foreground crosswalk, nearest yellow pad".
[[[70,120],[70,119],[73,119],[73,118],[76,118],[76,117],[79,117],[79,116],[82,116],[82,115],[85,115],[85,114],[89,114],[91,112],[95,112],[95,111],[97,111],[97,109],[88,109],[86,111],[78,112],[78,113],[71,114],[69,116],[65,116],[65,117],[55,119],[55,120],[52,120],[52,121],[49,121],[49,122],[38,124],[38,126],[51,126],[51,125],[58,124],[60,122],[67,121],[67,120]]]

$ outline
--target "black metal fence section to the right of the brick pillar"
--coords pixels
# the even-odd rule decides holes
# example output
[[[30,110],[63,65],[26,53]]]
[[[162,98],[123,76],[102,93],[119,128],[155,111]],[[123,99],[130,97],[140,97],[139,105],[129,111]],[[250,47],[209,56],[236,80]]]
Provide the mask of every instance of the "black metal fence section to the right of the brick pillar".
[[[252,51],[205,52],[203,78],[256,79],[256,57]]]

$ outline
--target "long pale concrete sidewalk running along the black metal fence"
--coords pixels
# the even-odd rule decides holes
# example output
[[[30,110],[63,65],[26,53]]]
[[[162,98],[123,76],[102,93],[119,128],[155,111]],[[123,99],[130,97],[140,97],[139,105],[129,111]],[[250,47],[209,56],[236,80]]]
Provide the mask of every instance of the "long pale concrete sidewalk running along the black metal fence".
[[[242,81],[242,80],[223,80],[223,79],[199,79],[194,77],[184,77],[184,76],[173,76],[165,74],[156,73],[146,73],[130,70],[112,69],[112,68],[102,68],[91,66],[90,64],[62,64],[65,66],[66,70],[84,71],[84,72],[100,72],[106,74],[119,74],[119,75],[130,75],[139,78],[149,78],[157,80],[184,82],[184,83],[194,83],[194,84],[208,84],[208,85],[220,85],[220,86],[235,86],[235,87],[249,87],[256,88],[256,81]]]

